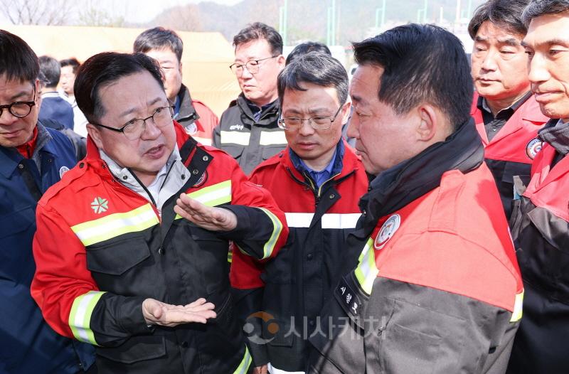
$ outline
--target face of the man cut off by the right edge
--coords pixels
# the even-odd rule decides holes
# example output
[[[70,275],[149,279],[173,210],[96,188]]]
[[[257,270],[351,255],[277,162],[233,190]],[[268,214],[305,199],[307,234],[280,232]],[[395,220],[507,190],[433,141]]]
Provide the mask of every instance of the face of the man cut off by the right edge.
[[[569,121],[569,11],[533,18],[523,45],[531,90],[541,112]]]

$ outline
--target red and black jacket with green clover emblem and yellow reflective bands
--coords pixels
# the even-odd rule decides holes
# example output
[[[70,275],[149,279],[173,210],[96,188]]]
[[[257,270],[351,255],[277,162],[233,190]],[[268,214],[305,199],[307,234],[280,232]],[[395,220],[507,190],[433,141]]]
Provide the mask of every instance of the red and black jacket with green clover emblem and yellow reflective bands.
[[[32,296],[56,331],[97,346],[99,373],[244,374],[250,366],[229,293],[228,240],[270,257],[286,240],[284,213],[233,159],[175,126],[184,165],[171,178],[185,184],[161,213],[117,181],[92,141],[87,158],[38,203]],[[216,233],[182,219],[174,213],[182,192],[232,210],[237,228]],[[185,305],[201,297],[216,306],[207,324],[144,321],[144,299]]]

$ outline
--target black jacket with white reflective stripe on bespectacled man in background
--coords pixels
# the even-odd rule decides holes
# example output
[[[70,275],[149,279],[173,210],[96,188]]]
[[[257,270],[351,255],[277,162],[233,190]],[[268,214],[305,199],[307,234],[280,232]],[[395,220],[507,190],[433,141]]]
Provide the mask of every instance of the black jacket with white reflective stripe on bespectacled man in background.
[[[284,130],[278,126],[280,102],[275,102],[255,117],[241,93],[221,114],[218,127],[213,130],[213,146],[228,152],[237,160],[245,174],[287,146]]]

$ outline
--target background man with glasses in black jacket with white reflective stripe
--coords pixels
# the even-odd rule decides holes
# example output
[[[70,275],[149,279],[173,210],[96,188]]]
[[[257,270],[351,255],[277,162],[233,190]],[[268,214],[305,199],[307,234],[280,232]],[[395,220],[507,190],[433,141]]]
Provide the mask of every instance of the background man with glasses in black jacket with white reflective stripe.
[[[252,23],[233,37],[235,62],[230,65],[241,93],[221,114],[213,146],[228,152],[248,174],[262,161],[285,149],[278,127],[277,75],[285,66],[282,38],[265,23]]]

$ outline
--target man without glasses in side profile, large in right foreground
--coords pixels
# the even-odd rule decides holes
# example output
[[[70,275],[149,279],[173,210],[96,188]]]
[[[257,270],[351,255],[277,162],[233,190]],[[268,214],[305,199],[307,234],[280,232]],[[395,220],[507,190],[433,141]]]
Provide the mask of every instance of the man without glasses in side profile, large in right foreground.
[[[504,373],[523,289],[462,44],[410,24],[353,50],[348,135],[376,178],[308,372]]]

